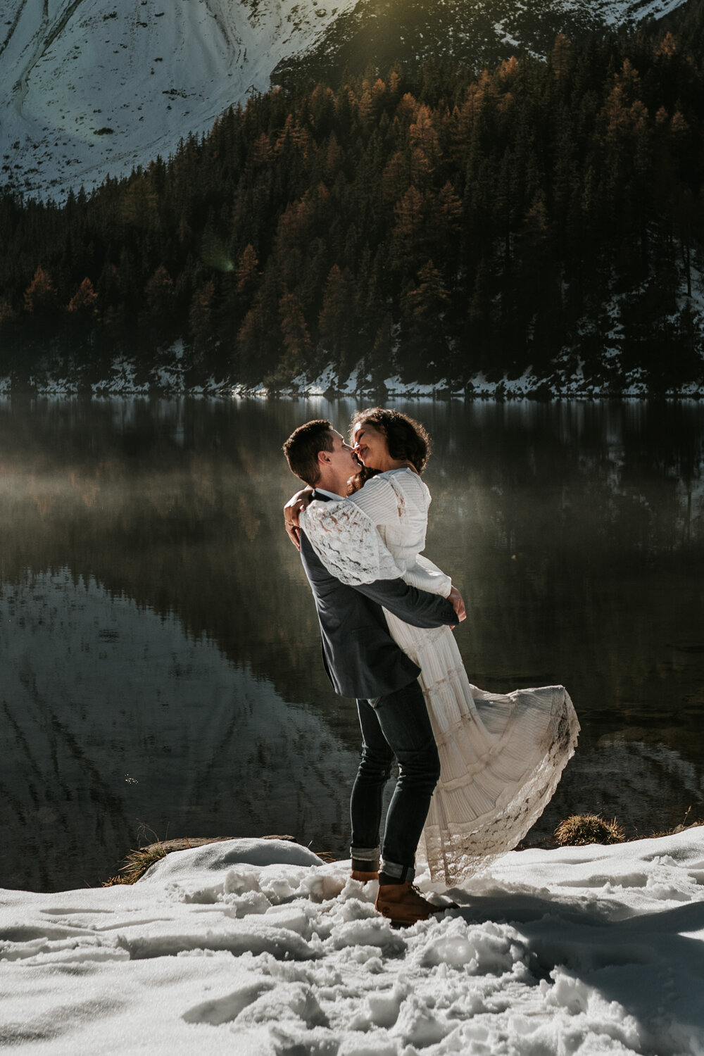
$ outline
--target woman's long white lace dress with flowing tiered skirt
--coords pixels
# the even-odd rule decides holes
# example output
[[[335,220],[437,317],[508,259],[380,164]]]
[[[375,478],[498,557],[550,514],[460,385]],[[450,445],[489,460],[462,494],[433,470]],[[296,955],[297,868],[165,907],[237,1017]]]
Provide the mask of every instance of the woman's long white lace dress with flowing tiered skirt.
[[[302,525],[325,567],[344,583],[402,576],[446,597],[450,578],[421,554],[430,502],[417,473],[391,470],[350,498],[311,503]],[[433,880],[451,886],[526,835],[574,754],[579,723],[564,686],[486,693],[470,683],[450,627],[425,630],[385,616],[393,638],[421,670],[440,754],[418,856]]]

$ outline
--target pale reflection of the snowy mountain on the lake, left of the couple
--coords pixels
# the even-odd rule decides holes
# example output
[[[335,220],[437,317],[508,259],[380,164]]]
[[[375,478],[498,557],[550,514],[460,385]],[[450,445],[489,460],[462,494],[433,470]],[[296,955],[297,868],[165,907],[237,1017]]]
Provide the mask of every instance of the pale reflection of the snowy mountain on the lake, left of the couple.
[[[104,879],[140,821],[340,841],[353,754],[177,620],[60,569],[6,585],[0,621],[5,885]]]

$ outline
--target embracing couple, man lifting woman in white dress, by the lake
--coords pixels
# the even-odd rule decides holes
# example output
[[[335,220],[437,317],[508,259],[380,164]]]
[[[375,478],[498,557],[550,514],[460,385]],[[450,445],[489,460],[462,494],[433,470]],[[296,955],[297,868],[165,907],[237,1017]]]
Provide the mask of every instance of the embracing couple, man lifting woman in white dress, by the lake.
[[[359,712],[351,876],[378,880],[376,908],[413,924],[446,908],[413,886],[417,853],[451,886],[515,847],[550,800],[579,724],[563,686],[500,695],[470,683],[452,631],[465,618],[462,598],[422,554],[430,442],[419,422],[383,408],[358,412],[347,444],[329,421],[308,421],[284,453],[308,486],[284,512],[325,667]]]

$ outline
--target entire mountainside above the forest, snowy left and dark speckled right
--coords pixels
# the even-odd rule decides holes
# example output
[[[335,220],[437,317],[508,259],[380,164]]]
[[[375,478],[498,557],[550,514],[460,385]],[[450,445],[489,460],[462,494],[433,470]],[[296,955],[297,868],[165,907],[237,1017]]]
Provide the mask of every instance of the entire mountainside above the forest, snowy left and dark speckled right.
[[[0,170],[62,199],[206,131],[279,76],[452,54],[479,63],[682,0],[4,0]]]

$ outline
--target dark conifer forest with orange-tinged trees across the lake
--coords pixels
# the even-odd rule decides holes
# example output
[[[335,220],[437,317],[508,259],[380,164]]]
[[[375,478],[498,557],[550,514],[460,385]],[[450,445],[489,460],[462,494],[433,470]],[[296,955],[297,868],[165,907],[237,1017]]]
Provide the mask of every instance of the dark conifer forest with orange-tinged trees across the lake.
[[[0,374],[704,383],[701,5],[473,71],[272,88],[56,204],[0,186]],[[58,367],[57,367],[58,364]]]

